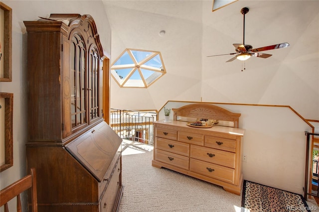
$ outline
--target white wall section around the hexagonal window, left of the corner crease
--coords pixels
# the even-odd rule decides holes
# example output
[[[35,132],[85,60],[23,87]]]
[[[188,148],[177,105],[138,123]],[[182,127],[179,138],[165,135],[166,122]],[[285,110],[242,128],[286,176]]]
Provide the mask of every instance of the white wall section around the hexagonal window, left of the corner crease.
[[[201,9],[200,1],[107,1],[111,62],[126,48],[160,51],[167,71],[148,89],[120,88],[112,78],[111,107],[159,109],[168,99],[200,101]]]

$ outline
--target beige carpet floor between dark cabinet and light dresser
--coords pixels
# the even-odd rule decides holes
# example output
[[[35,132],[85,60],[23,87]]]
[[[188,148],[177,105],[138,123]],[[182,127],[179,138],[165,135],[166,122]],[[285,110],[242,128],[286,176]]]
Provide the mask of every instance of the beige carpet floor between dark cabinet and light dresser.
[[[164,168],[152,166],[153,146],[123,141],[124,193],[119,212],[253,212],[241,196]],[[307,201],[319,211],[316,202]],[[313,209],[313,208],[312,208]]]

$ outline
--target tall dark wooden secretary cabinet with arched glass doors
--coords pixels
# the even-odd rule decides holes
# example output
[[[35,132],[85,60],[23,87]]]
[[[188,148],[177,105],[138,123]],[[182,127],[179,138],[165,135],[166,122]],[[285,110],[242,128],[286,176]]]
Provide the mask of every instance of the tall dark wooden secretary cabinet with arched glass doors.
[[[104,54],[95,22],[91,15],[51,14],[24,24],[26,156],[27,169],[37,173],[38,211],[116,211],[122,139],[103,119]]]

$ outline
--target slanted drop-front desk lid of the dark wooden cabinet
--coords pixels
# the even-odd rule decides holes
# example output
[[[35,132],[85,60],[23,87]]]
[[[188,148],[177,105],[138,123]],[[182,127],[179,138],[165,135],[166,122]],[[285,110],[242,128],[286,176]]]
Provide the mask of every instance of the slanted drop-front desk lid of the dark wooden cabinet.
[[[101,182],[121,143],[122,139],[103,121],[65,147]]]

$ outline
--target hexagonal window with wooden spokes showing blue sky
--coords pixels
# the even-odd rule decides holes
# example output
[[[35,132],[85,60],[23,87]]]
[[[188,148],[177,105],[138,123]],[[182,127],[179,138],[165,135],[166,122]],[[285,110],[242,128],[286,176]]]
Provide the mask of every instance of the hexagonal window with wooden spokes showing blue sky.
[[[160,52],[125,49],[112,64],[111,74],[122,88],[148,88],[166,70]]]

